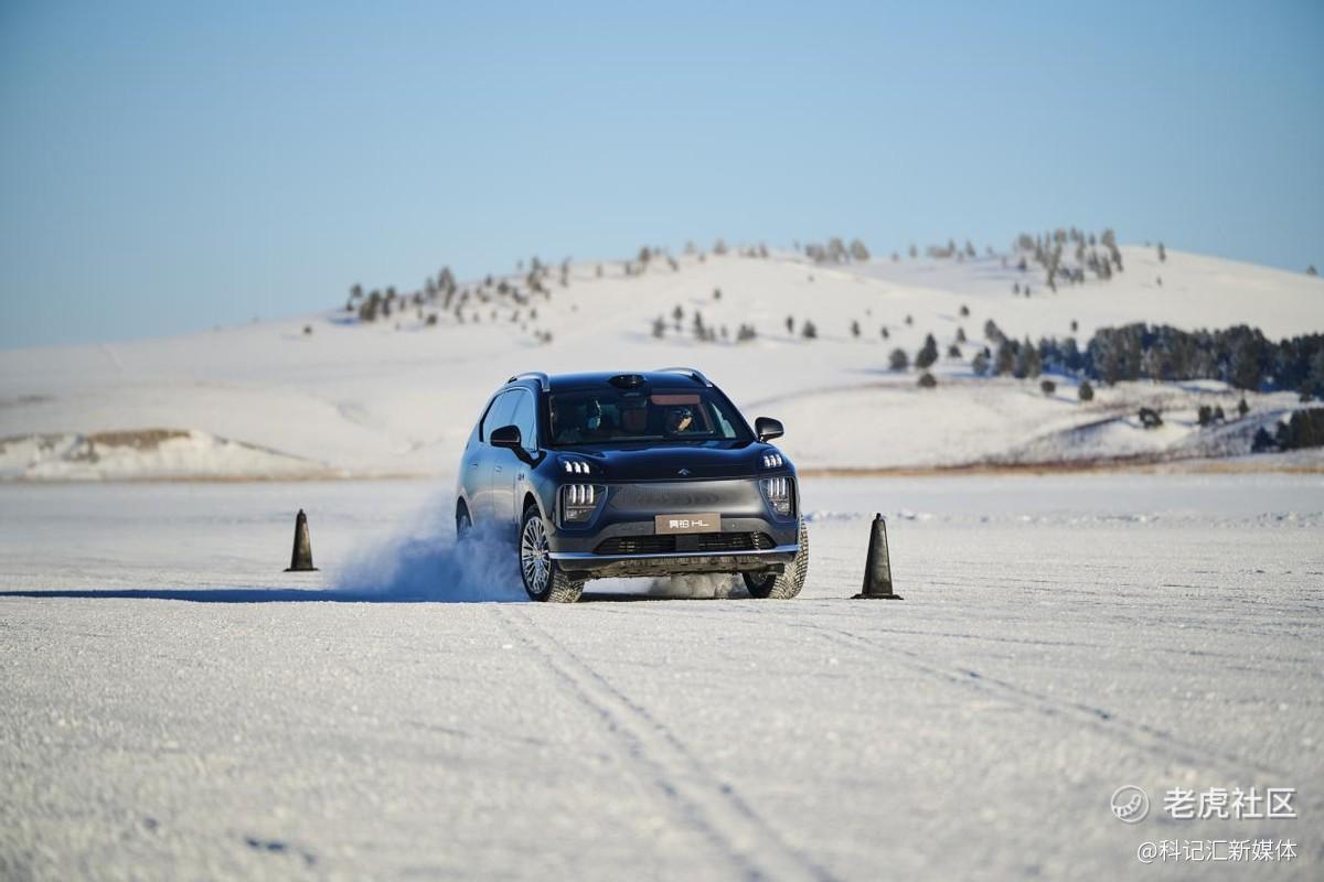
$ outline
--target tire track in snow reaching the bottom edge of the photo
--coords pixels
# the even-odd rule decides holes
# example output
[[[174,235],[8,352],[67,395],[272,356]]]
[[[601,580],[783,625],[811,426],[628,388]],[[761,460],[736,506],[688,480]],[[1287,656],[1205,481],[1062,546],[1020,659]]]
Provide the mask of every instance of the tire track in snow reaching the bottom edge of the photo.
[[[751,882],[835,877],[801,854],[741,797],[716,779],[685,743],[613,686],[592,665],[539,625],[527,612],[496,608],[496,615],[556,676],[563,689],[594,715],[621,743],[647,783]]]

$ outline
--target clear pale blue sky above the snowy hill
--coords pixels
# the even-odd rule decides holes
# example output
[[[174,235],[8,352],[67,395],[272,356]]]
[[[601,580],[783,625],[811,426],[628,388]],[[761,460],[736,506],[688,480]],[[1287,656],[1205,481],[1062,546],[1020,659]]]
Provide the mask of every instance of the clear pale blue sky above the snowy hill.
[[[1023,229],[1324,263],[1324,4],[0,5],[0,346],[519,258]]]

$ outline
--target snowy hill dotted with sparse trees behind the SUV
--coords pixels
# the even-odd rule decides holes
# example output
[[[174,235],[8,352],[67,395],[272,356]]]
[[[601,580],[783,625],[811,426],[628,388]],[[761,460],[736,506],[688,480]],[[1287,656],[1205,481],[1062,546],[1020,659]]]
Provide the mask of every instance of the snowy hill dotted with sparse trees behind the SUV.
[[[1124,272],[1055,294],[1042,271],[997,257],[824,266],[789,253],[710,254],[629,272],[621,262],[576,263],[567,287],[552,274],[545,296],[530,295],[523,274],[493,287],[461,283],[473,296],[458,317],[410,303],[371,324],[332,309],[162,340],[3,352],[0,477],[449,476],[483,401],[512,373],[674,364],[708,373],[748,417],[784,419],[784,448],[802,468],[1249,452],[1255,428],[1296,407],[1295,394],[1249,394],[1246,419],[1201,428],[1200,405],[1234,417],[1242,394],[1218,382],[1096,383],[1096,397],[1082,402],[1068,377],[1053,377],[1057,389],[1045,394],[1038,380],[970,370],[989,345],[989,320],[1013,339],[1074,336],[1082,346],[1096,328],[1131,321],[1245,323],[1275,340],[1324,331],[1317,278],[1177,251],[1160,262],[1148,247],[1120,253]],[[502,280],[523,292],[498,292]],[[1013,295],[1023,283],[1031,296]],[[696,311],[715,341],[692,333]],[[735,342],[744,324],[757,336]],[[888,370],[892,349],[914,358],[928,333],[940,353],[931,390],[916,386],[914,369]],[[1164,424],[1141,427],[1140,406],[1160,410]],[[166,434],[146,448],[103,443],[97,452],[93,440],[89,455],[87,439],[105,432]]]

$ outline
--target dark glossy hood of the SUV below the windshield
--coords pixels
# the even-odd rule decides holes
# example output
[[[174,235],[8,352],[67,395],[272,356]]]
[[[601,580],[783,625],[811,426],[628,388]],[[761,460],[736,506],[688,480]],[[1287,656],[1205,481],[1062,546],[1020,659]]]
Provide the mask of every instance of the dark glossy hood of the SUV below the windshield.
[[[755,477],[769,444],[699,442],[694,444],[625,444],[620,447],[559,447],[560,456],[583,458],[601,467],[609,481],[685,481],[715,477]],[[688,475],[682,475],[686,469]]]

